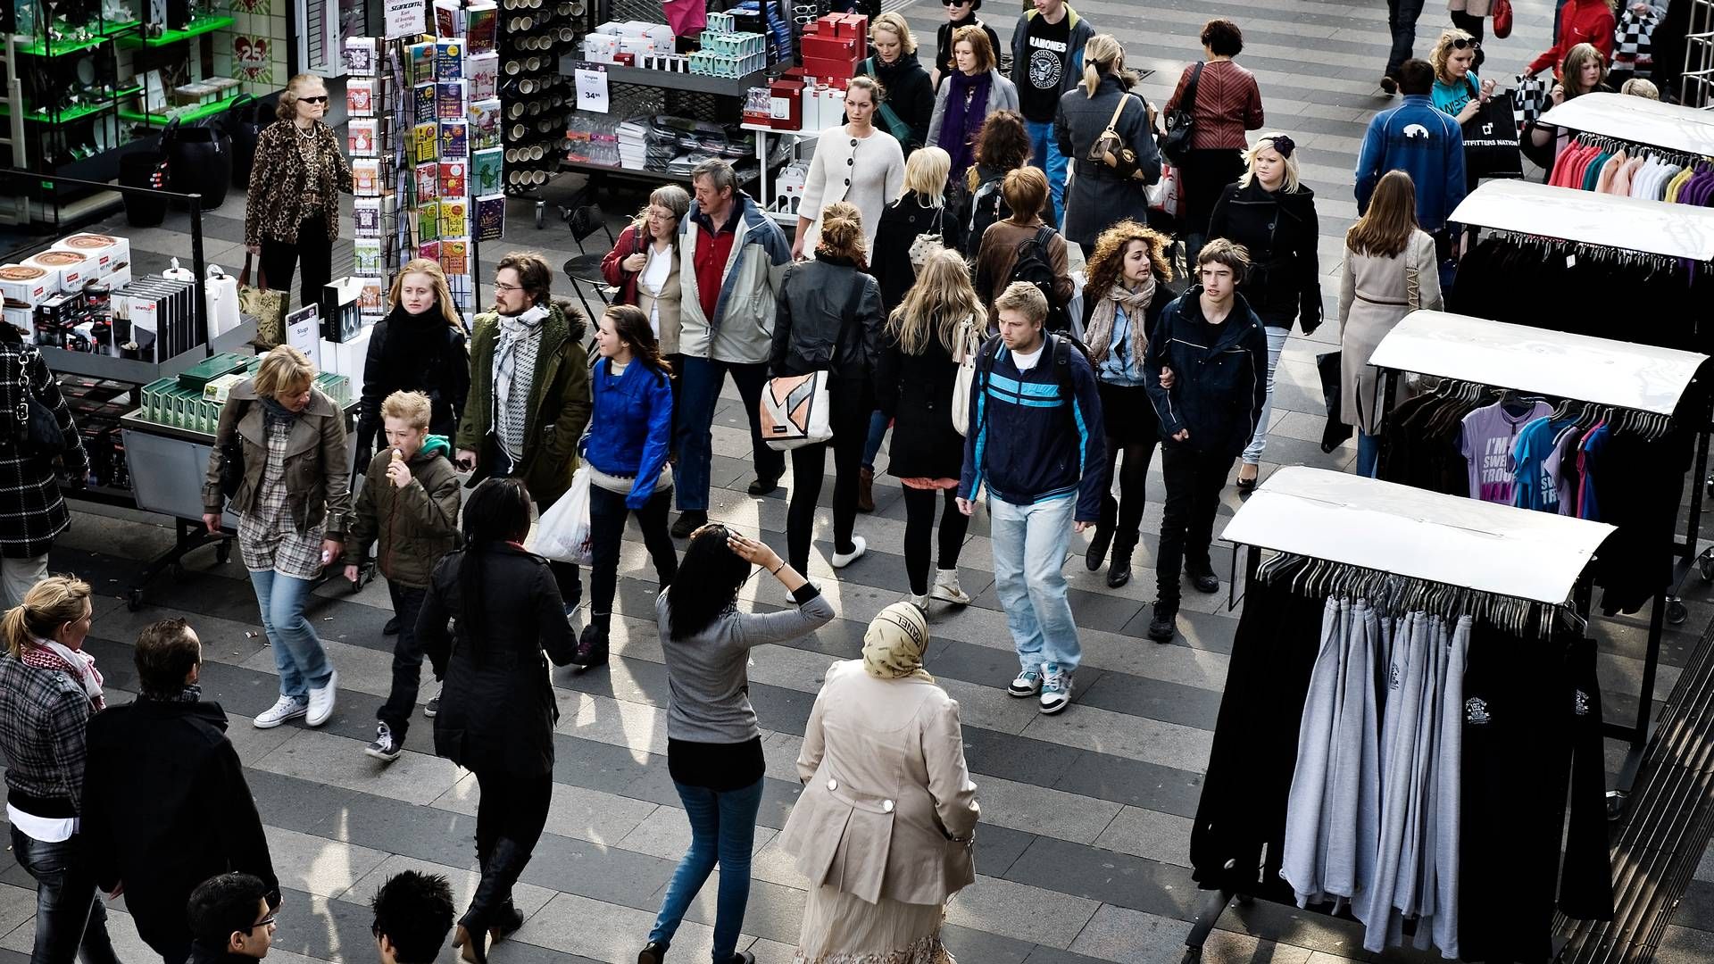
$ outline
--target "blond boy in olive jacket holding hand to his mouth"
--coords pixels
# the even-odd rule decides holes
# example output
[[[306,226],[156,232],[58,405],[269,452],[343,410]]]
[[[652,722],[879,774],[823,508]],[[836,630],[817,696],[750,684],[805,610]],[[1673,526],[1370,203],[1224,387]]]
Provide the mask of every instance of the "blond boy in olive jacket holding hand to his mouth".
[[[428,434],[432,403],[420,391],[394,391],[381,403],[387,446],[375,453],[363,477],[363,491],[351,513],[345,542],[345,578],[357,580],[357,566],[369,547],[381,540],[381,575],[399,618],[393,643],[393,686],[375,712],[375,741],[363,748],[375,760],[391,763],[405,753],[405,734],[417,708],[422,684],[423,648],[417,640],[417,614],[435,563],[458,549],[458,473],[447,456],[452,444]]]

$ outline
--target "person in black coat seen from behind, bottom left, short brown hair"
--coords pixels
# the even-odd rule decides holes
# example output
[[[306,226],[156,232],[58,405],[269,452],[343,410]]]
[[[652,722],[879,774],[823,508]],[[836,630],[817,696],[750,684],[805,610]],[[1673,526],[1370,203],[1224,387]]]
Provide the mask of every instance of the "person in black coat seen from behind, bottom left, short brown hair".
[[[82,837],[101,890],[123,889],[137,935],[182,964],[192,938],[185,901],[199,883],[243,871],[278,906],[279,882],[226,714],[201,700],[197,635],[163,619],[132,655],[141,696],[89,719]]]

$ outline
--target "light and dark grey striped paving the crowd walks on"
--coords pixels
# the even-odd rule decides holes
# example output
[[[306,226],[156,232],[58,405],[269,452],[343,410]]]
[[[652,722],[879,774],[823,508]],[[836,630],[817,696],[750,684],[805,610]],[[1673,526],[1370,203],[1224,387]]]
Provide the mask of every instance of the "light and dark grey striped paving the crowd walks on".
[[[1445,21],[1441,10],[1429,7],[1423,38]],[[1198,53],[1196,31],[1205,17],[1229,15],[1244,27],[1241,62],[1260,77],[1267,129],[1297,139],[1304,180],[1318,196],[1323,292],[1332,314],[1339,238],[1356,216],[1349,189],[1356,149],[1364,120],[1385,103],[1375,91],[1387,55],[1385,5],[1219,0],[1193,7],[1087,0],[1078,9],[1097,29],[1118,34],[1133,67],[1155,70],[1143,86],[1155,103],[1164,103],[1183,63]],[[1006,0],[989,0],[984,10],[1003,34],[1010,31],[1008,10]],[[905,12],[932,48],[941,7],[919,0]],[[1520,0],[1513,39],[1488,48],[1496,72],[1515,70],[1534,53],[1532,45],[1544,45],[1549,19],[1544,0]],[[204,216],[211,261],[233,266],[243,259],[242,204],[235,196]],[[554,264],[576,254],[562,230],[530,226],[528,206],[516,206],[512,214],[502,247],[542,249]],[[180,214],[165,228],[127,230],[115,223],[113,230],[132,237],[139,271],[158,271],[168,256],[189,254]],[[348,250],[348,242],[336,250],[336,264],[343,264]],[[1335,324],[1287,346],[1265,472],[1297,463],[1349,467],[1349,446],[1332,455],[1318,446],[1321,415],[1313,357],[1330,343],[1337,343]],[[761,499],[744,494],[751,479],[749,443],[730,393],[716,417],[715,443],[718,491],[711,515],[759,530],[783,551],[785,491]],[[1076,705],[1066,714],[1040,717],[1032,702],[1004,695],[1016,662],[994,599],[984,513],[974,520],[962,557],[963,585],[977,595],[975,604],[965,611],[936,606],[932,612],[934,647],[927,664],[962,705],[965,751],[984,815],[977,883],[948,911],[946,938],[965,964],[1178,961],[1198,906],[1184,866],[1190,822],[1236,612],[1226,611],[1224,593],[1219,599],[1191,593],[1181,614],[1184,633],[1172,645],[1143,640],[1160,497],[1155,470],[1136,576],[1121,590],[1107,590],[1100,573],[1083,569],[1082,542],[1073,540],[1066,573],[1083,630],[1085,667],[1076,679]],[[821,539],[811,576],[835,602],[840,619],[812,638],[756,650],[751,667],[751,695],[766,727],[768,789],[740,947],[764,964],[790,961],[804,904],[804,880],[775,846],[775,835],[795,798],[792,760],[821,676],[830,660],[857,655],[866,621],[905,592],[898,485],[879,480],[876,501],[878,511],[860,516],[857,528],[869,540],[869,554],[838,578],[826,564],[831,520],[826,509],[818,518]],[[1222,516],[1236,504],[1229,489]],[[89,647],[110,690],[134,690],[129,643],[147,623],[185,614],[202,635],[209,660],[204,691],[231,715],[230,732],[288,890],[269,961],[374,959],[367,899],[398,870],[447,873],[463,906],[475,887],[475,780],[428,753],[430,722],[420,717],[408,751],[391,767],[362,753],[374,736],[374,710],[389,681],[391,638],[381,635],[389,616],[386,588],[370,585],[351,595],[345,583],[333,583],[317,592],[312,619],[327,640],[343,684],[333,720],[319,731],[297,724],[257,731],[250,715],[273,703],[276,681],[238,563],[218,564],[213,551],[204,549],[189,557],[182,573],[158,580],[141,612],[127,612],[120,602],[139,561],[170,542],[170,528],[156,516],[81,511],[55,549],[53,566],[84,575],[101,593]],[[1229,557],[1227,549],[1217,551],[1222,573]],[[632,528],[620,561],[612,666],[583,678],[554,674],[560,702],[554,808],[518,889],[528,923],[495,949],[499,964],[632,961],[687,844],[689,830],[663,758],[667,683],[651,621],[651,573]],[[1695,588],[1687,628],[1700,631],[1711,606],[1705,592]],[[746,587],[746,606],[783,602],[770,581],[752,580]],[[1599,628],[1603,700],[1620,719],[1628,719],[1637,705],[1645,626],[1647,612]],[[1669,633],[1656,700],[1669,693],[1693,640],[1695,633]],[[1613,744],[1609,765],[1618,765]],[[29,887],[31,880],[14,863],[0,868],[0,957],[27,955],[34,901]],[[706,959],[711,895],[713,883],[691,911],[674,949],[675,961]],[[1676,923],[1681,926],[1668,930],[1659,961],[1709,961],[1714,859],[1704,861]],[[1220,925],[1207,950],[1210,962],[1368,959],[1349,925],[1287,907],[1234,909]],[[113,916],[113,928],[123,959],[149,959],[123,913]],[[451,959],[447,950],[442,961]],[[1385,959],[1426,961],[1402,952]]]

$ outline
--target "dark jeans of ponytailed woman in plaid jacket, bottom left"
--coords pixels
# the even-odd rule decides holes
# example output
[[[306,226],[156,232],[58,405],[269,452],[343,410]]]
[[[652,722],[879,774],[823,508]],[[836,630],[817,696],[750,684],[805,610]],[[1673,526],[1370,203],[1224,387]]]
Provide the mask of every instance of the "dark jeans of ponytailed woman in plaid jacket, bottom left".
[[[118,964],[106,933],[106,906],[75,834],[46,842],[12,827],[12,858],[36,878],[36,947],[31,964]]]

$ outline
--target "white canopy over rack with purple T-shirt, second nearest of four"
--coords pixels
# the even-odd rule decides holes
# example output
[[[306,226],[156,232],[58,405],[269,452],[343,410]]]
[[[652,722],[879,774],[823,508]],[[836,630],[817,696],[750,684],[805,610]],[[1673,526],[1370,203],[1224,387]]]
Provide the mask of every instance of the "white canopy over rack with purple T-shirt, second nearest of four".
[[[1416,310],[1369,364],[1575,401],[1671,415],[1707,355],[1567,334],[1464,314]]]

